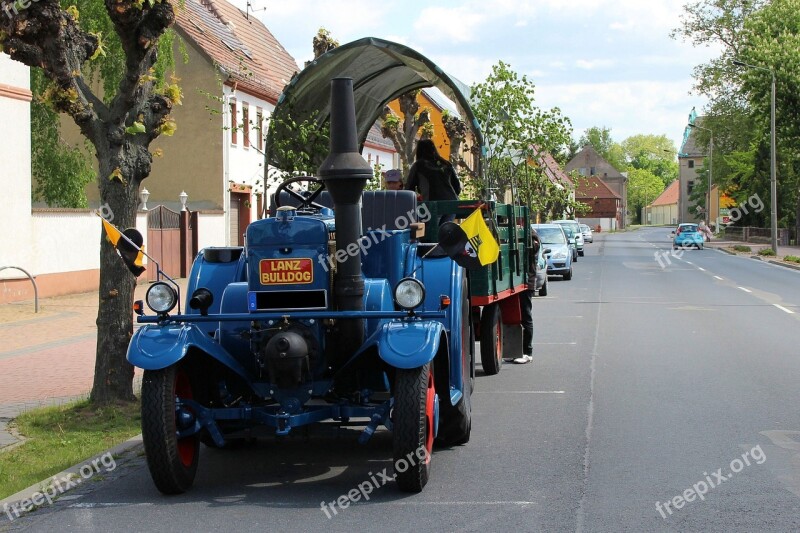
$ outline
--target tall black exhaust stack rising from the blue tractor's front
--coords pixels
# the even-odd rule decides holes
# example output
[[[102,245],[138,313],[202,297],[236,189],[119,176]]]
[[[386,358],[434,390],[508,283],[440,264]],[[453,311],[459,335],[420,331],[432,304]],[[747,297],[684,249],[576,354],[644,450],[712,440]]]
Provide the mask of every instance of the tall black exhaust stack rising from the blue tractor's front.
[[[336,216],[336,249],[348,250],[361,238],[361,193],[372,169],[358,152],[353,80],[331,80],[331,152],[319,167],[319,176],[333,199]],[[340,311],[364,310],[364,277],[361,257],[346,254],[334,278],[336,306]],[[344,354],[352,354],[364,343],[363,320],[339,321]]]

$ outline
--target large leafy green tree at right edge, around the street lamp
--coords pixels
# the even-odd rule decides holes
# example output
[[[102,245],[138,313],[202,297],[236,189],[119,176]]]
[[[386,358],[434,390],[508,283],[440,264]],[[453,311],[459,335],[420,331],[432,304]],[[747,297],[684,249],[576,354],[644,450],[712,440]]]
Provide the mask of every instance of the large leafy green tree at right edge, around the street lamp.
[[[768,191],[770,92],[776,81],[778,218],[800,220],[800,127],[796,87],[800,83],[800,1],[696,0],[673,32],[697,46],[714,45],[720,55],[695,67],[695,90],[708,97],[704,126],[714,131],[714,183],[728,194]],[[739,67],[740,61],[760,68]],[[708,137],[698,135],[700,145]],[[719,154],[719,155],[718,155]],[[749,161],[750,170],[742,165]],[[704,200],[703,200],[704,202]],[[743,220],[741,223],[744,223]]]

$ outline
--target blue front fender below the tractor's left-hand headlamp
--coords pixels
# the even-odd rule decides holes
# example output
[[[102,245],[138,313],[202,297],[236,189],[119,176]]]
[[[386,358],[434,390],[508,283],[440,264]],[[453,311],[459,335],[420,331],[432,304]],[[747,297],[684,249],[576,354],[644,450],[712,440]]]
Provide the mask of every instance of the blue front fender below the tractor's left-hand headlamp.
[[[196,347],[230,368],[247,383],[245,368],[196,324],[148,324],[134,333],[128,345],[128,362],[144,370],[161,370],[186,357]]]

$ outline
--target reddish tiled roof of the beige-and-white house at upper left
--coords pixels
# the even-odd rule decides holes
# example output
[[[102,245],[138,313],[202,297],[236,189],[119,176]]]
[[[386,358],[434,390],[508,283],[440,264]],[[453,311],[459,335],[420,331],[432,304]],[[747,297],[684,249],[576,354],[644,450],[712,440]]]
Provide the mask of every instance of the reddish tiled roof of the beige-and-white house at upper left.
[[[229,83],[272,103],[298,70],[261,21],[226,0],[185,0],[176,26],[230,75]]]

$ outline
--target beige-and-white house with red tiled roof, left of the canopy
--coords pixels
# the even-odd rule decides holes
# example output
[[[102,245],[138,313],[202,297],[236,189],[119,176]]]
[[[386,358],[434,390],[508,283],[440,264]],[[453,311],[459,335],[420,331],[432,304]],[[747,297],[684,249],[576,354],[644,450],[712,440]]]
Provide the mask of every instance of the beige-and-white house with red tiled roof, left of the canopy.
[[[226,0],[185,0],[175,11],[183,104],[173,110],[175,135],[151,145],[163,156],[142,183],[146,205],[180,211],[185,192],[188,209],[201,215],[201,248],[241,245],[262,212],[268,119],[297,62],[258,18]],[[87,196],[98,203],[94,183]]]

